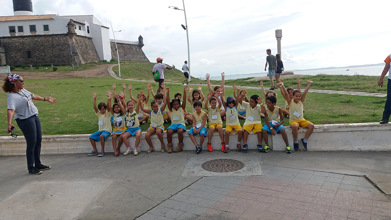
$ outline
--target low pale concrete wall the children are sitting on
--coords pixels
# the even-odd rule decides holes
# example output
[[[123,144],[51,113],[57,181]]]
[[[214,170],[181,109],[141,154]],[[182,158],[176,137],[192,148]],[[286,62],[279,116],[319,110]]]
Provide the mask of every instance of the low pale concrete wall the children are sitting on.
[[[289,144],[293,151],[293,137],[290,128],[286,127]],[[360,124],[336,124],[336,125],[315,125],[314,132],[308,140],[309,151],[391,151],[390,141],[391,126],[380,125],[379,123],[360,123]],[[306,130],[299,130],[299,139],[304,138]],[[92,147],[88,139],[89,134],[76,135],[48,135],[43,136],[41,154],[74,154],[91,152]],[[282,140],[281,134],[276,136],[269,136],[269,145],[274,151],[285,151],[285,144]],[[164,132],[164,143],[167,146],[167,133]],[[199,137],[196,137],[199,140]],[[230,135],[229,147],[231,150],[236,149],[237,135],[235,133]],[[130,146],[134,147],[134,137],[129,138]],[[207,151],[207,139],[203,144],[203,150]],[[117,140],[118,143],[118,140]],[[152,143],[155,151],[160,150],[160,142],[156,135],[152,136]],[[177,134],[173,137],[174,148],[177,146]],[[243,143],[243,142],[241,142]],[[248,137],[249,149],[256,149],[258,143],[257,135],[250,133]],[[264,145],[264,143],[262,143]],[[189,135],[184,135],[184,150],[195,151],[195,146],[190,140]],[[98,150],[100,150],[100,143],[97,143]],[[141,134],[140,141],[141,151],[146,152],[149,147],[145,141],[145,132]],[[212,138],[212,147],[214,150],[220,151],[220,138],[215,132]],[[302,149],[302,144],[300,144]],[[125,152],[125,144],[121,146],[121,153]],[[0,156],[9,155],[25,155],[26,143],[23,136],[17,138],[9,136],[0,137]],[[106,152],[113,152],[111,137],[106,140]],[[295,153],[295,152],[293,152]]]

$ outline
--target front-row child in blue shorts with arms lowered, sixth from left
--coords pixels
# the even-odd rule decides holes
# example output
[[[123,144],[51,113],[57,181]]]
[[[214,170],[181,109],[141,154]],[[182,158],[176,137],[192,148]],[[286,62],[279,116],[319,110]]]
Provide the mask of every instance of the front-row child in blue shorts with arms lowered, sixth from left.
[[[202,144],[206,137],[206,118],[208,115],[202,111],[202,102],[200,101],[195,101],[193,103],[193,108],[195,109],[195,112],[192,114],[193,127],[189,131],[189,136],[195,145],[195,153],[199,154],[202,151]],[[197,134],[199,134],[199,144],[197,144],[194,137],[197,136]]]

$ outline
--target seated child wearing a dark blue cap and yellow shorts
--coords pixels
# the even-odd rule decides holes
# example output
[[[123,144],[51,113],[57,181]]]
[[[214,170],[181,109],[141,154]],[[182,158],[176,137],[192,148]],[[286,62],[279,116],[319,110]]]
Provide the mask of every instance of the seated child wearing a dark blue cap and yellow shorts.
[[[221,95],[221,98],[224,99],[224,96]],[[224,153],[229,152],[229,135],[234,132],[234,130],[238,133],[238,144],[236,147],[238,150],[241,150],[240,141],[243,135],[243,129],[240,126],[239,118],[238,118],[238,103],[235,101],[234,97],[228,96],[227,102],[222,103],[225,108],[225,149]]]

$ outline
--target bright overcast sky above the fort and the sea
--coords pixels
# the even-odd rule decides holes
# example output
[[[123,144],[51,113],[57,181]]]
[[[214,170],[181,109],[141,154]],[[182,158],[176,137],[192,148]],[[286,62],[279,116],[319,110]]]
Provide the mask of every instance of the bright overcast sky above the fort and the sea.
[[[13,15],[0,0],[0,16]],[[144,53],[181,69],[187,60],[181,0],[32,0],[34,14],[94,15],[112,22],[116,39],[137,41]],[[282,29],[285,70],[382,63],[391,53],[389,0],[185,0],[191,73],[264,72],[267,48],[277,53]],[[110,30],[110,38],[112,32]],[[380,74],[380,73],[379,73]]]

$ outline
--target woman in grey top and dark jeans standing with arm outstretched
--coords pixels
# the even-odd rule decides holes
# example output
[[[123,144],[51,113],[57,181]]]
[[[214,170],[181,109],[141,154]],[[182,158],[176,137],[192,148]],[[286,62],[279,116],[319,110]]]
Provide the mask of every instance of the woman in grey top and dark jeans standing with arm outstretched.
[[[38,117],[38,109],[33,103],[34,100],[48,101],[53,104],[57,100],[51,95],[47,98],[34,95],[24,87],[24,80],[17,74],[12,74],[4,80],[3,90],[8,92],[7,96],[7,121],[8,131],[11,131],[12,116],[18,123],[26,139],[27,169],[29,174],[42,174],[41,170],[48,170],[51,167],[41,164],[41,122]]]

